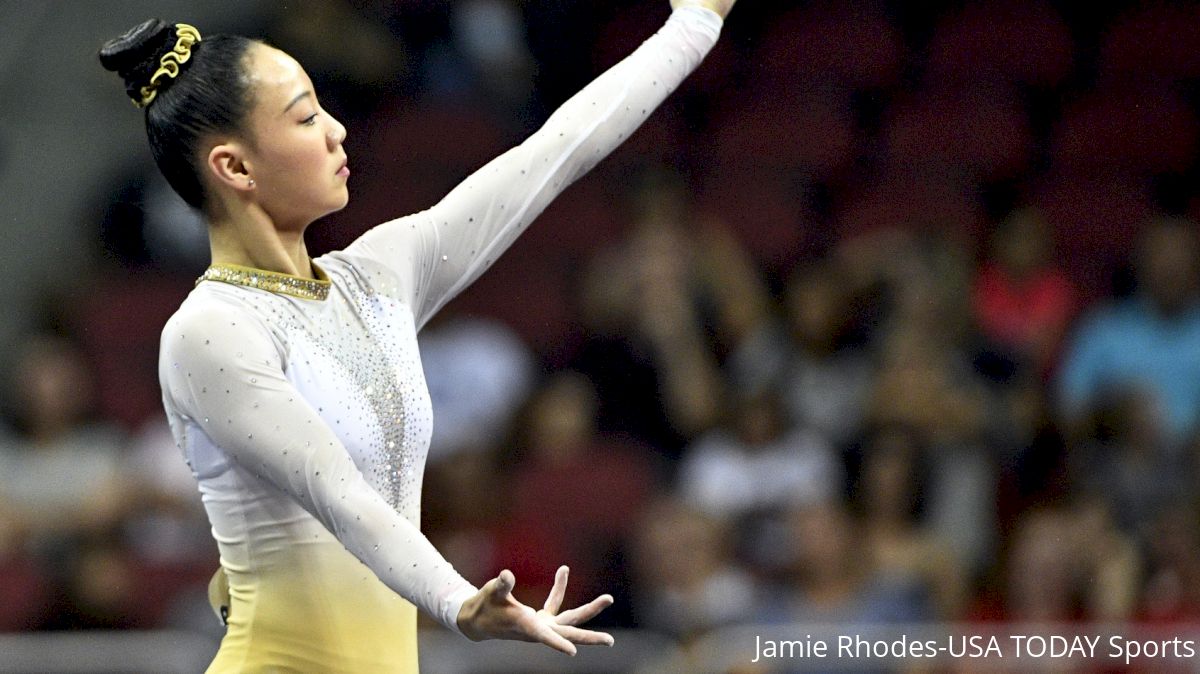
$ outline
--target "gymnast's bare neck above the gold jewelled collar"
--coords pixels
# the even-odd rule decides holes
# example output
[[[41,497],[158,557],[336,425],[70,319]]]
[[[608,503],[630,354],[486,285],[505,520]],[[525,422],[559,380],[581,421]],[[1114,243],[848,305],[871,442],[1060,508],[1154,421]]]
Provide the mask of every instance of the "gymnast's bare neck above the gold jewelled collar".
[[[234,264],[313,278],[304,229],[277,229],[257,207],[236,217],[212,219],[209,227],[212,264]]]

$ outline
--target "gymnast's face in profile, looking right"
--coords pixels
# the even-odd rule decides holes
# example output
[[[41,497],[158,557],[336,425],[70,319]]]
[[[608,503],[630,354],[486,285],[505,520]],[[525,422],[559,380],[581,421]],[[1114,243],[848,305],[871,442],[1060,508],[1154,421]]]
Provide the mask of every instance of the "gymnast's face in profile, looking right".
[[[254,101],[246,173],[276,227],[302,229],[349,200],[346,127],[317,102],[295,59],[265,44],[256,44],[247,59]]]

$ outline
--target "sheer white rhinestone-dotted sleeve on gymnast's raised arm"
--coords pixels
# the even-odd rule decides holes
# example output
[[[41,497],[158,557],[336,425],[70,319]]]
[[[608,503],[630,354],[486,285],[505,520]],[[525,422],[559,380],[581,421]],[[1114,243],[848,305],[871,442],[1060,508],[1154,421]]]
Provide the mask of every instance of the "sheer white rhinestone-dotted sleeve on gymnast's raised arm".
[[[379,224],[338,254],[370,267],[377,282],[386,279],[380,289],[410,303],[420,327],[554,197],[629,138],[700,65],[720,29],[712,11],[674,11],[658,34],[571,97],[524,143],[436,206]]]

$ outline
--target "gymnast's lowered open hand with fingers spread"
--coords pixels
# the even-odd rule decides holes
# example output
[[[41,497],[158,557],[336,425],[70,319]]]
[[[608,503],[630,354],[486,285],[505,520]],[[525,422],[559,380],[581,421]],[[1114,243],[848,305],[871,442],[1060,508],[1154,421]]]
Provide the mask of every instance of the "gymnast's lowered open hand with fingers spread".
[[[558,613],[563,595],[566,594],[566,576],[568,568],[559,566],[545,607],[535,612],[512,596],[516,578],[511,571],[504,570],[488,580],[479,594],[463,602],[462,610],[458,612],[458,628],[473,642],[540,642],[566,655],[575,655],[575,644],[611,646],[612,636],[581,630],[576,625],[592,620],[612,606],[612,596],[600,595],[578,608]]]

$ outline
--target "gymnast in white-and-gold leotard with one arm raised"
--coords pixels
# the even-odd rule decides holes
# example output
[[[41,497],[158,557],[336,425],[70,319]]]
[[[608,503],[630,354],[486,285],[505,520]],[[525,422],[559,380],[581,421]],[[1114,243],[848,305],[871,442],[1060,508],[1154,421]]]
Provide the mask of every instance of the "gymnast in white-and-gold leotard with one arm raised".
[[[612,644],[576,627],[610,596],[559,613],[565,567],[535,612],[509,571],[476,589],[421,535],[416,331],[637,128],[734,1],[672,0],[666,25],[541,131],[317,259],[304,233],[347,203],[346,128],[295,60],[158,20],[103,47],[163,174],[209,222],[212,266],[163,330],[160,379],[221,550],[228,628],[210,672],[416,672],[416,608],[473,640]]]

